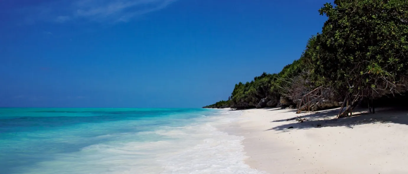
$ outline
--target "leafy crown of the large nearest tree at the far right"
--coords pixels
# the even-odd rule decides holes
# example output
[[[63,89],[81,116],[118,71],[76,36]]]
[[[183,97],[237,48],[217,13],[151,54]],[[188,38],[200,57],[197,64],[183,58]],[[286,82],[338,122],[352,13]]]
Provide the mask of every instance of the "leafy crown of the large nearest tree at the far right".
[[[342,93],[377,98],[407,83],[408,1],[336,0],[309,58],[315,77]]]

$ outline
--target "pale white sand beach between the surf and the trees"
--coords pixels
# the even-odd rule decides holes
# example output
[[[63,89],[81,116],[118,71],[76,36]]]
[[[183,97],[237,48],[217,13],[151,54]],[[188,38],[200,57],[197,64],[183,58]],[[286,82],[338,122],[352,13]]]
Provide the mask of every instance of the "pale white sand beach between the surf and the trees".
[[[279,108],[233,112],[240,112],[241,119],[225,129],[245,137],[246,163],[259,171],[408,173],[408,110],[382,108],[376,114],[343,119],[335,119],[336,109],[301,114]],[[299,116],[308,121],[287,120]]]

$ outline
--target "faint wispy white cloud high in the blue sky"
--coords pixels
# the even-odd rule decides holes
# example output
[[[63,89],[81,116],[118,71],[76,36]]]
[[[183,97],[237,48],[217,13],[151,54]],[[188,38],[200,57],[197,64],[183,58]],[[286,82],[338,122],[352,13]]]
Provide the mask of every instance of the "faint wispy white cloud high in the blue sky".
[[[177,0],[60,0],[24,8],[29,23],[38,20],[69,22],[127,22],[147,13],[159,11]]]

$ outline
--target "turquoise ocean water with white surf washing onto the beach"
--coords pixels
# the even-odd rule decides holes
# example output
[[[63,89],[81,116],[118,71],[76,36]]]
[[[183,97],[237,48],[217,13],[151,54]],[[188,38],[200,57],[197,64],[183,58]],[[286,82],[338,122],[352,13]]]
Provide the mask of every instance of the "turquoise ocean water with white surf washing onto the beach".
[[[0,108],[0,174],[259,174],[211,109]]]

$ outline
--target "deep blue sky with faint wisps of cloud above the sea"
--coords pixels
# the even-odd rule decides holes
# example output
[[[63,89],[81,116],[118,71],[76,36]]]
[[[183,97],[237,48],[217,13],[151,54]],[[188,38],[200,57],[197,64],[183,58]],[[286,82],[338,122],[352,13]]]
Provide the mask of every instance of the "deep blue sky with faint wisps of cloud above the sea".
[[[298,59],[328,0],[1,0],[1,107],[201,107]]]

